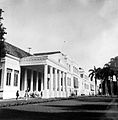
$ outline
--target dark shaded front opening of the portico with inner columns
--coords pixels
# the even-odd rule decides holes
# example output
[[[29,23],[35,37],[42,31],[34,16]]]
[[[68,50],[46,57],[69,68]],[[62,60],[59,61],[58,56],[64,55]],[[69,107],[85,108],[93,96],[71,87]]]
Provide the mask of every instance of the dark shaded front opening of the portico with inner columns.
[[[42,83],[43,70],[41,68],[42,66],[38,68],[36,66],[21,67],[20,91],[25,91],[25,89],[28,89],[28,91],[32,91],[32,92],[36,90],[41,91],[41,85],[43,84]],[[27,71],[27,73],[25,73],[25,70]],[[25,80],[26,80],[26,84],[25,84]]]

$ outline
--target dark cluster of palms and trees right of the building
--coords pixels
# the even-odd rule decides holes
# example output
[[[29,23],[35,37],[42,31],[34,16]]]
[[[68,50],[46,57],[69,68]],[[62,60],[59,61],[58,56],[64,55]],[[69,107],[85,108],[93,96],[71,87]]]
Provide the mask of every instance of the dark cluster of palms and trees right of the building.
[[[105,64],[103,68],[90,69],[89,77],[91,80],[95,80],[95,92],[97,80],[101,80],[101,89],[104,90],[104,94],[113,95],[114,93],[118,94],[118,57],[112,58],[108,64]],[[116,77],[117,86],[113,86],[113,76]],[[116,92],[117,88],[117,92]],[[115,90],[115,91],[114,91]],[[102,91],[103,94],[103,91]]]

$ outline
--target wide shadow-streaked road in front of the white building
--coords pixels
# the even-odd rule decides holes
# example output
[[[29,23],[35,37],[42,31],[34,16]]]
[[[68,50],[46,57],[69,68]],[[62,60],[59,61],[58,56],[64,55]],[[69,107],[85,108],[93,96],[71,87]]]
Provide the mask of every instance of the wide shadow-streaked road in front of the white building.
[[[118,120],[118,99],[83,97],[4,107],[0,120]]]

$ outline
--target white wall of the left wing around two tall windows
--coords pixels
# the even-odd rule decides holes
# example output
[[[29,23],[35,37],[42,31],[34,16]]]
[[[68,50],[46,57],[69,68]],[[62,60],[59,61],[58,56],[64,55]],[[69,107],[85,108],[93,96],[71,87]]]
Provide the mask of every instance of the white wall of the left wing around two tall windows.
[[[11,74],[11,85],[6,85],[7,68],[12,69]],[[19,71],[18,75],[18,86],[14,86],[14,70]],[[19,59],[11,55],[5,57],[5,73],[4,73],[4,86],[3,86],[3,99],[15,98],[16,91],[20,89],[20,65]]]

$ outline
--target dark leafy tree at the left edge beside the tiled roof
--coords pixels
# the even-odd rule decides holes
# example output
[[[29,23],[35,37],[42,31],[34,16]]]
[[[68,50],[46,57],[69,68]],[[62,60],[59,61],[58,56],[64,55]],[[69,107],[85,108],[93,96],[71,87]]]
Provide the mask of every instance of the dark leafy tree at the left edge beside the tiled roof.
[[[5,27],[3,27],[3,24],[1,22],[1,20],[3,20],[3,17],[2,17],[2,13],[4,11],[2,9],[0,9],[0,59],[5,57],[6,55],[6,51],[5,51],[5,45],[4,45],[4,42],[5,42],[5,38],[4,38],[4,35],[7,34],[5,32]]]

